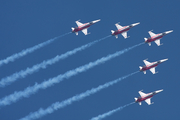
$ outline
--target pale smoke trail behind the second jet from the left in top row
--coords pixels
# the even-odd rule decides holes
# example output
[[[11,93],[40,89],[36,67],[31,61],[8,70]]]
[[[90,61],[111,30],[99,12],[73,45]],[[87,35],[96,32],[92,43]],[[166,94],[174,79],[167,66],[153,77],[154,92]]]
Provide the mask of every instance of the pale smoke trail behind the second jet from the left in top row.
[[[82,51],[86,48],[89,48],[92,45],[94,45],[95,43],[100,42],[101,40],[104,40],[110,36],[111,35],[108,35],[104,38],[90,42],[86,45],[82,45],[81,47],[75,48],[74,50],[68,51],[62,55],[57,55],[56,57],[54,57],[52,59],[49,59],[49,60],[43,61],[39,64],[36,64],[36,65],[32,66],[31,68],[26,68],[25,70],[21,70],[19,72],[16,72],[16,73],[10,75],[10,76],[2,78],[0,81],[0,87],[5,87],[6,85],[9,85],[9,84],[15,82],[19,78],[25,78],[27,75],[33,74],[34,72],[37,72],[39,69],[45,69],[48,65],[55,64],[59,60],[65,59],[65,58],[69,57],[70,55],[73,55],[79,51]]]

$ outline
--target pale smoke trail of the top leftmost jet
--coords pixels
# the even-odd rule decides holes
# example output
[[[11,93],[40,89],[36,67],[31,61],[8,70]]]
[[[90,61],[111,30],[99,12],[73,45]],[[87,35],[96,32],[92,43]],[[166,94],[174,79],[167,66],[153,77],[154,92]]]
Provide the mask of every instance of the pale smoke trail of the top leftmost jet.
[[[68,35],[68,34],[70,34],[70,33],[71,33],[71,32],[65,33],[65,34],[63,34],[63,35],[60,35],[60,36],[55,37],[55,38],[53,38],[53,39],[50,39],[50,40],[48,40],[48,41],[46,41],[46,42],[40,43],[40,44],[38,44],[38,45],[35,45],[35,46],[31,47],[31,48],[27,48],[27,49],[25,49],[25,50],[22,50],[22,51],[19,52],[19,53],[15,53],[15,54],[7,57],[6,59],[0,60],[0,66],[2,66],[2,65],[4,65],[4,64],[8,64],[9,62],[13,62],[13,61],[15,61],[16,59],[18,59],[18,58],[20,58],[20,57],[23,57],[23,56],[25,56],[25,55],[27,55],[27,54],[29,54],[29,53],[32,53],[32,52],[34,52],[35,50],[38,50],[38,49],[40,49],[40,48],[42,48],[42,47],[44,47],[44,46],[52,43],[54,40],[56,40],[56,39],[58,39],[58,38],[60,38],[60,37],[63,37],[63,36],[65,36],[65,35]]]

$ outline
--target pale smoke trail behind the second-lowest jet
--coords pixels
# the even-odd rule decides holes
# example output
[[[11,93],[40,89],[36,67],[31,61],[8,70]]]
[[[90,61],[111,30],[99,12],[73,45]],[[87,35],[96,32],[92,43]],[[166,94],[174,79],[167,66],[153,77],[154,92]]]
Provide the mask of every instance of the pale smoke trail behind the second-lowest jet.
[[[49,106],[46,109],[40,108],[38,111],[30,113],[29,115],[27,115],[24,118],[21,118],[20,120],[34,120],[34,119],[41,118],[41,117],[43,117],[43,116],[45,116],[47,114],[53,113],[54,111],[56,111],[58,109],[64,108],[67,105],[70,105],[70,104],[72,104],[75,101],[82,100],[85,97],[88,97],[88,96],[90,96],[92,94],[95,94],[95,93],[99,92],[100,90],[108,88],[109,86],[112,86],[112,85],[116,84],[117,82],[120,82],[121,80],[126,79],[127,77],[130,77],[130,76],[132,76],[132,75],[134,75],[134,74],[136,74],[138,72],[139,71],[131,73],[131,74],[126,75],[124,77],[118,78],[116,80],[107,82],[107,83],[105,83],[103,85],[99,85],[96,88],[92,88],[91,90],[87,90],[86,92],[83,92],[81,94],[75,95],[75,96],[73,96],[73,97],[71,97],[69,99],[66,99],[66,100],[62,101],[62,102],[53,103],[51,106]]]

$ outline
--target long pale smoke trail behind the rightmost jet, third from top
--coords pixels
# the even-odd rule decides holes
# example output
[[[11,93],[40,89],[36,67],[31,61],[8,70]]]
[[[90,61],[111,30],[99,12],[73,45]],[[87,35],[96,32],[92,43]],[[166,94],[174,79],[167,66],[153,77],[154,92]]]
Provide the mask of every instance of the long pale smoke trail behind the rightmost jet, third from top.
[[[4,98],[0,99],[0,106],[10,105],[11,103],[14,103],[14,102],[22,99],[23,97],[29,97],[31,94],[35,94],[40,89],[46,89],[48,87],[51,87],[52,85],[57,84],[57,83],[63,81],[64,79],[68,79],[72,76],[75,76],[75,75],[81,73],[81,72],[85,72],[85,71],[89,70],[90,68],[93,68],[99,64],[106,62],[106,61],[109,61],[125,52],[128,52],[129,50],[131,50],[135,47],[142,45],[142,44],[144,44],[144,42],[134,45],[132,47],[126,48],[124,50],[118,51],[114,54],[110,54],[106,57],[102,57],[94,62],[90,62],[90,63],[80,66],[76,69],[67,71],[64,74],[60,74],[57,77],[50,78],[49,80],[44,81],[40,84],[36,83],[34,86],[27,87],[26,89],[24,89],[24,91],[14,92],[13,94],[10,94],[10,95],[5,96]]]

